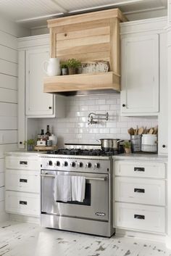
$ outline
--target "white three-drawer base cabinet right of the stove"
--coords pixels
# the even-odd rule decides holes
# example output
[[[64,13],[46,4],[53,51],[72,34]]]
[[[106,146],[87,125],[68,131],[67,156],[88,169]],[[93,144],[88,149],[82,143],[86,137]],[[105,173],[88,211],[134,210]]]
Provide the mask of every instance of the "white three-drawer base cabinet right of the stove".
[[[114,226],[165,233],[164,162],[114,161]]]

